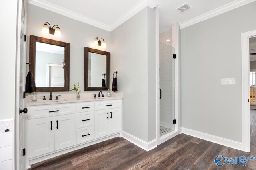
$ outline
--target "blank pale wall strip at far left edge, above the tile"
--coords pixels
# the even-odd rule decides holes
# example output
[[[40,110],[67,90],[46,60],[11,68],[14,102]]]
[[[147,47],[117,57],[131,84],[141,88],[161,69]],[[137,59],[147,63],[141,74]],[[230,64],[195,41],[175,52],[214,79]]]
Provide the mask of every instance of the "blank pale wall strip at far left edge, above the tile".
[[[15,113],[17,0],[0,0],[0,6],[0,120],[3,120],[14,119]]]

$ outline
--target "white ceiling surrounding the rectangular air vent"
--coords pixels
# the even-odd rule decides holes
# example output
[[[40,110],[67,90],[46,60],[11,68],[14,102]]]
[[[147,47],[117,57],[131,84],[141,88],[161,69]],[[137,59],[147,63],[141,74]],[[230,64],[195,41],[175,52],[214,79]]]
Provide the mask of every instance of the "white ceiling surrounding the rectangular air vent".
[[[112,31],[124,21],[149,6],[160,9],[160,33],[171,29],[173,23],[184,23],[207,12],[222,7],[221,12],[253,0],[29,0],[30,4],[54,11],[107,31]],[[180,14],[176,8],[188,2],[191,10]],[[223,8],[228,4],[229,8]],[[227,6],[227,5],[226,5]],[[220,14],[220,11],[217,13]],[[208,18],[210,18],[208,16]],[[205,18],[204,18],[205,19]],[[198,21],[201,21],[202,18]],[[189,23],[191,25],[191,23]]]

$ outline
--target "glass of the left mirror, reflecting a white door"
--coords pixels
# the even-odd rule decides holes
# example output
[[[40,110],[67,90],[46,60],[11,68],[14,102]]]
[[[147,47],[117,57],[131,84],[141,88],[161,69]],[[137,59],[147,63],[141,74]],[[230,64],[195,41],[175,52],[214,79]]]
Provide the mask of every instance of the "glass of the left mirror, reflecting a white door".
[[[36,87],[64,87],[65,48],[36,42]]]

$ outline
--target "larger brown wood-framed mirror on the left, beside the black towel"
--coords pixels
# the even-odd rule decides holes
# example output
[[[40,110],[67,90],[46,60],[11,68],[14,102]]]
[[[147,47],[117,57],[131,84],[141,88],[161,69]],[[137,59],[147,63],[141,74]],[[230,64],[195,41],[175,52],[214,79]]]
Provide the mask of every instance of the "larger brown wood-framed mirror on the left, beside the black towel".
[[[38,92],[69,91],[70,44],[30,35],[30,71]]]

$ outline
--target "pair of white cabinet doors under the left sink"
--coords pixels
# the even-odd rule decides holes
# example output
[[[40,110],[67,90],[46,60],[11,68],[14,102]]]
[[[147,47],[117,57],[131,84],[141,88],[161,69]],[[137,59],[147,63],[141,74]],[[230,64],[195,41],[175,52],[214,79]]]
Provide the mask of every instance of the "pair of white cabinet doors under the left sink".
[[[29,158],[76,145],[76,115],[28,120]]]

